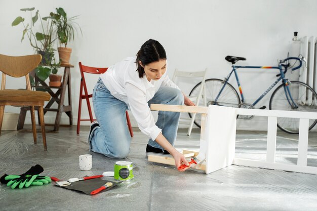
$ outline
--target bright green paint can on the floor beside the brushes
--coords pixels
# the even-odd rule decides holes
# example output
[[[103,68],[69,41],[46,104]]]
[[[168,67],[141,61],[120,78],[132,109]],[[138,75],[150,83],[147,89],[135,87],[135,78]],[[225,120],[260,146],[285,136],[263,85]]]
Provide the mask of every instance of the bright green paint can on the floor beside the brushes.
[[[114,179],[117,181],[129,181],[133,176],[132,162],[117,161],[114,164]]]

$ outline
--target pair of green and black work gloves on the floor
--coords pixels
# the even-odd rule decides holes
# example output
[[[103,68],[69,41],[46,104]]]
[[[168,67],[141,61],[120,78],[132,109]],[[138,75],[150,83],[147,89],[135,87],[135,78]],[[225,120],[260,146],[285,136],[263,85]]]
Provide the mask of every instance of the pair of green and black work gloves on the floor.
[[[7,184],[7,186],[11,186],[12,189],[15,189],[16,187],[18,187],[19,189],[24,187],[28,188],[38,177],[38,174],[41,174],[43,171],[43,167],[37,164],[35,166],[32,166],[26,173],[22,175],[5,174],[0,178],[0,182],[3,184]],[[40,178],[39,180],[43,180],[43,178]]]

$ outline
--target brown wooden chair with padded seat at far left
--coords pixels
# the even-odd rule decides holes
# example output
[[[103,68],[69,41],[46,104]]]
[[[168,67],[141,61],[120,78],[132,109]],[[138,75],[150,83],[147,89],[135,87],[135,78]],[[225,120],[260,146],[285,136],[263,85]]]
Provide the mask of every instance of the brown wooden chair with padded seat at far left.
[[[31,72],[42,60],[41,55],[28,56],[6,56],[0,54],[0,70],[2,82],[0,90],[0,132],[6,105],[11,106],[30,106],[34,144],[36,144],[36,125],[34,106],[38,106],[39,119],[42,129],[44,150],[47,150],[45,124],[44,124],[44,101],[49,101],[51,96],[47,92],[32,91],[29,79]],[[12,77],[26,78],[26,90],[6,90],[6,75]]]

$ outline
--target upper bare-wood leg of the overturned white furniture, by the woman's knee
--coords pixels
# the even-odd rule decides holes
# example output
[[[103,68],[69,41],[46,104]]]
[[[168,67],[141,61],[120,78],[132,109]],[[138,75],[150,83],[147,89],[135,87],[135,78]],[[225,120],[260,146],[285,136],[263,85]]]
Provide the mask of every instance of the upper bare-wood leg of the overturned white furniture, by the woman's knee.
[[[205,107],[205,106],[151,104],[151,110],[208,114],[208,107]]]

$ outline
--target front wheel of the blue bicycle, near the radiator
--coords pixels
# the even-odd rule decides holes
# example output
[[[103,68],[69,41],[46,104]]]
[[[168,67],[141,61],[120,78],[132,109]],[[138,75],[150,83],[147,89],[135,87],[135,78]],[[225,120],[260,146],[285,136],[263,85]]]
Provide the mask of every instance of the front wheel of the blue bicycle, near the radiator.
[[[287,111],[317,111],[317,94],[316,92],[300,81],[291,81],[289,83],[290,94],[297,104],[297,108],[292,107],[285,94],[285,85],[280,85],[274,90],[270,102],[269,109],[271,110],[287,110]],[[289,96],[288,96],[289,98]],[[289,98],[290,99],[290,98]],[[309,130],[317,123],[316,119],[309,119]],[[299,133],[299,119],[298,118],[278,118],[278,127],[290,134]]]

